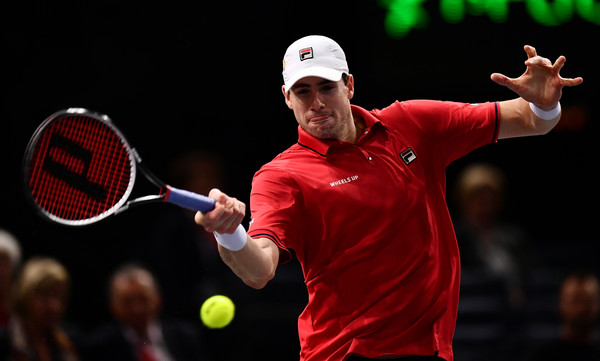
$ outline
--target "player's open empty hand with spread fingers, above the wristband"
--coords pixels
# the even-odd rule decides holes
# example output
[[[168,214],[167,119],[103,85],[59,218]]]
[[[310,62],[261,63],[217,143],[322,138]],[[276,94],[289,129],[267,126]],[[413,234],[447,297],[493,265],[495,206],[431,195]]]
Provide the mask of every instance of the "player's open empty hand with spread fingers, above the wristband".
[[[525,45],[527,69],[518,78],[509,78],[494,73],[491,78],[517,93],[521,98],[544,110],[554,108],[562,96],[562,88],[575,86],[583,82],[583,78],[563,78],[560,70],[565,65],[565,57],[560,56],[554,64],[550,60],[537,55],[534,47]]]

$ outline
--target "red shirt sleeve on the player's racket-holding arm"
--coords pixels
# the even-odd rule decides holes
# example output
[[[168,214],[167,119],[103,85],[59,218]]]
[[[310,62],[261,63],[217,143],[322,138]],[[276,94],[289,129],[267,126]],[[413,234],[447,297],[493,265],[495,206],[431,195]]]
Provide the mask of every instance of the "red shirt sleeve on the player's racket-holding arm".
[[[280,248],[279,263],[291,260],[289,248],[299,231],[293,222],[301,212],[300,190],[283,170],[269,165],[259,170],[252,180],[250,193],[251,222],[248,234],[252,238],[266,237]]]

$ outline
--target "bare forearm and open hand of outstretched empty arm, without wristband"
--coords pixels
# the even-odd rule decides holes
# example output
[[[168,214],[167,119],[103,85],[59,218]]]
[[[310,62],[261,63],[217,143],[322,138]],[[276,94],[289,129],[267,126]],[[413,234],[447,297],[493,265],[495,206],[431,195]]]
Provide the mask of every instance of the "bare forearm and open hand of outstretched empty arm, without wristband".
[[[541,119],[531,110],[529,103],[535,104],[541,110],[555,108],[562,96],[562,88],[575,86],[583,79],[562,78],[560,70],[565,64],[565,57],[560,56],[554,64],[546,58],[537,55],[535,48],[526,45],[525,65],[527,69],[518,78],[509,78],[494,73],[491,78],[517,93],[520,98],[500,102],[500,133],[498,138],[523,137],[546,134],[560,120],[560,113],[553,119]]]

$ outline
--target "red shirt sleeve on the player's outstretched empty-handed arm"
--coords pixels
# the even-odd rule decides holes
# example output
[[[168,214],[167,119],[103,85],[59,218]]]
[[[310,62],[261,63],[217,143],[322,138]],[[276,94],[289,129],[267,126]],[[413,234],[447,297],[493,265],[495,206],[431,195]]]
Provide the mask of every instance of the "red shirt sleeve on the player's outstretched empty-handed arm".
[[[498,103],[411,100],[381,110],[386,123],[411,139],[421,139],[445,165],[498,138]]]

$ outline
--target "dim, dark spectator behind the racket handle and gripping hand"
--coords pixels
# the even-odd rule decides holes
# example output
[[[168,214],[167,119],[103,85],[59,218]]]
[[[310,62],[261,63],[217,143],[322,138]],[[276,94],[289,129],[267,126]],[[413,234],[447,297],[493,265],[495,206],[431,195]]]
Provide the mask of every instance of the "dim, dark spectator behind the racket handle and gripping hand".
[[[169,164],[169,184],[207,195],[224,186],[223,161],[201,151],[182,153]],[[211,233],[196,227],[194,213],[165,206],[156,209],[147,234],[132,244],[130,258],[146,265],[161,285],[166,316],[197,320],[198,307],[208,296],[223,292],[218,279],[231,271],[221,262]]]

